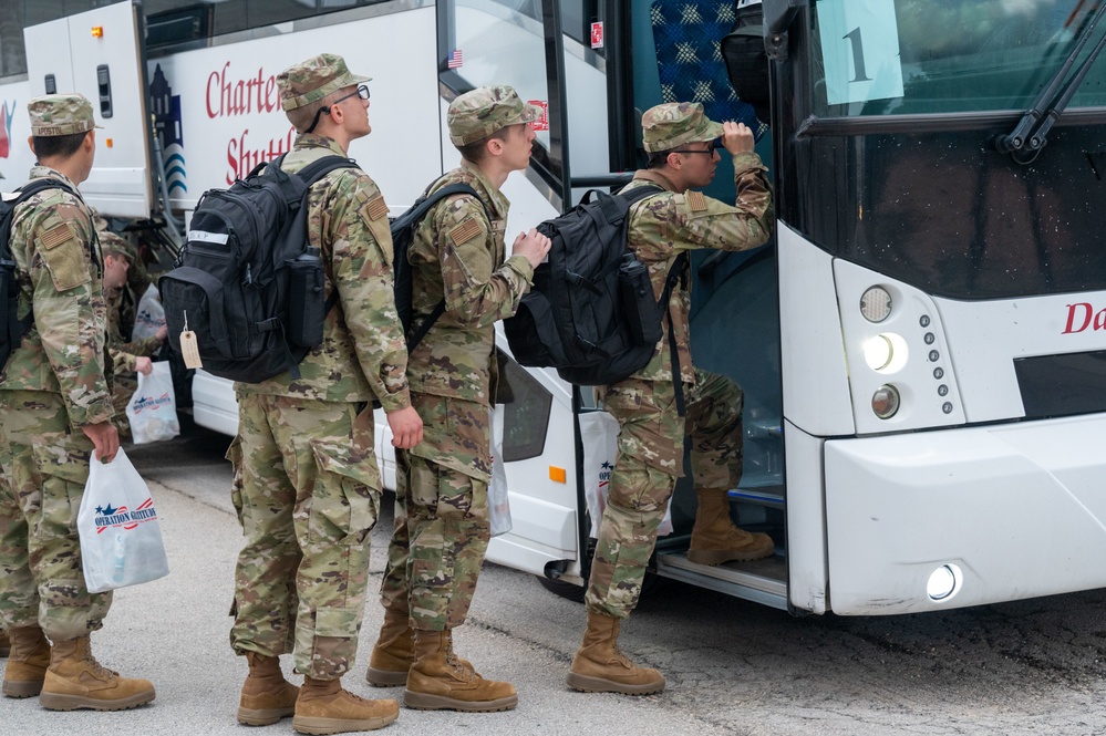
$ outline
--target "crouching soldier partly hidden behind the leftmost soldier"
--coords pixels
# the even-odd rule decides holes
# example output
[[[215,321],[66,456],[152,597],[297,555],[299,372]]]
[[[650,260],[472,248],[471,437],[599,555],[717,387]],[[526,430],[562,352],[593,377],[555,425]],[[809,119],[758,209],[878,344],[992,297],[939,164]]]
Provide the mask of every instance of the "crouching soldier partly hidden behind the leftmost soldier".
[[[120,442],[130,442],[131,423],[126,405],[138,390],[138,374],[149,375],[154,370],[151,360],[165,343],[166,328],[148,338],[132,340],[135,305],[134,292],[127,282],[131,268],[138,260],[137,249],[110,230],[100,230],[100,247],[104,251],[104,294],[107,299],[107,352],[112,357],[112,422],[120,433]]]

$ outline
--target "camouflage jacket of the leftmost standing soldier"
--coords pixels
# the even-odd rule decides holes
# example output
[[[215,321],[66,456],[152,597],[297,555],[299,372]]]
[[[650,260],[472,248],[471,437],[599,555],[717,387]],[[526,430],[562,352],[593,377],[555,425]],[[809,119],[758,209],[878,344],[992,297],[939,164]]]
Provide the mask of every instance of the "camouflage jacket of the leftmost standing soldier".
[[[31,169],[31,179],[43,177],[76,189],[52,168]],[[63,189],[40,191],[15,209],[10,245],[19,317],[33,311],[34,321],[12,351],[0,390],[61,394],[73,427],[106,422],[114,412],[104,353],[104,259],[89,207]]]

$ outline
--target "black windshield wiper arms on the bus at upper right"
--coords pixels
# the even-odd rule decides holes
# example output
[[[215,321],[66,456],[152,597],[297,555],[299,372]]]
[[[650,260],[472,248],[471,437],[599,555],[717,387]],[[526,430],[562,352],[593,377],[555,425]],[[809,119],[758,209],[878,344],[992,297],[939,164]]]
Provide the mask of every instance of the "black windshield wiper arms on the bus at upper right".
[[[995,138],[994,147],[1000,153],[1010,154],[1020,164],[1030,164],[1033,163],[1041,153],[1041,149],[1044,148],[1045,143],[1047,143],[1048,131],[1052,129],[1053,123],[1064,114],[1064,110],[1067,108],[1075,92],[1083,84],[1083,80],[1086,79],[1091,66],[1094,65],[1095,60],[1098,59],[1098,54],[1106,46],[1106,34],[1104,34],[1103,38],[1098,39],[1098,43],[1091,50],[1087,58],[1083,60],[1083,63],[1075,70],[1072,77],[1067,80],[1064,89],[1061,90],[1061,84],[1067,77],[1067,73],[1071,71],[1072,65],[1075,64],[1075,60],[1083,52],[1083,48],[1087,44],[1087,41],[1091,40],[1095,27],[1102,20],[1104,13],[1106,13],[1106,2],[1098,4],[1094,18],[1091,19],[1091,23],[1079,35],[1075,48],[1072,49],[1064,64],[1053,75],[1048,84],[1045,85],[1045,89],[1041,91],[1037,99],[1033,101],[1033,105],[1022,116],[1022,120],[1019,121],[1013,132]]]

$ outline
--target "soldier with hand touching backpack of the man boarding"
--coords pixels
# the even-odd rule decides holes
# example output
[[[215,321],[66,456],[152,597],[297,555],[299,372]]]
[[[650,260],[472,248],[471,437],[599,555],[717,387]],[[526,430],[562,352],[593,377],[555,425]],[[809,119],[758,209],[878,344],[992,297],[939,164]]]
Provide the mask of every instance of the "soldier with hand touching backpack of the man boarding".
[[[464,183],[479,198],[454,195],[432,208],[409,252],[412,330],[443,300],[445,311],[407,362],[426,435],[396,453],[384,625],[368,673],[374,685],[406,683],[409,707],[504,711],[518,701],[509,683],[484,680],[453,653],[451,632],[465,622],[489,538],[494,325],[515,313],[549,250],[536,230],[518,235],[509,258],[504,245],[509,203],[499,187],[529,165],[536,116],[508,86],[480,87],[449,105],[449,139],[462,162],[431,191]]]

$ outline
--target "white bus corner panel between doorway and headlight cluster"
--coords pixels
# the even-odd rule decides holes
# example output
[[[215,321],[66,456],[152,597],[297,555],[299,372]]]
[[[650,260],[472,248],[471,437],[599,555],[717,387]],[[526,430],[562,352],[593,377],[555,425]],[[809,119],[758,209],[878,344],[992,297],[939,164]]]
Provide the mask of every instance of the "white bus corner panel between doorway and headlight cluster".
[[[815,436],[852,434],[834,259],[784,222],[776,238],[784,417]],[[810,355],[819,356],[817,365]]]

